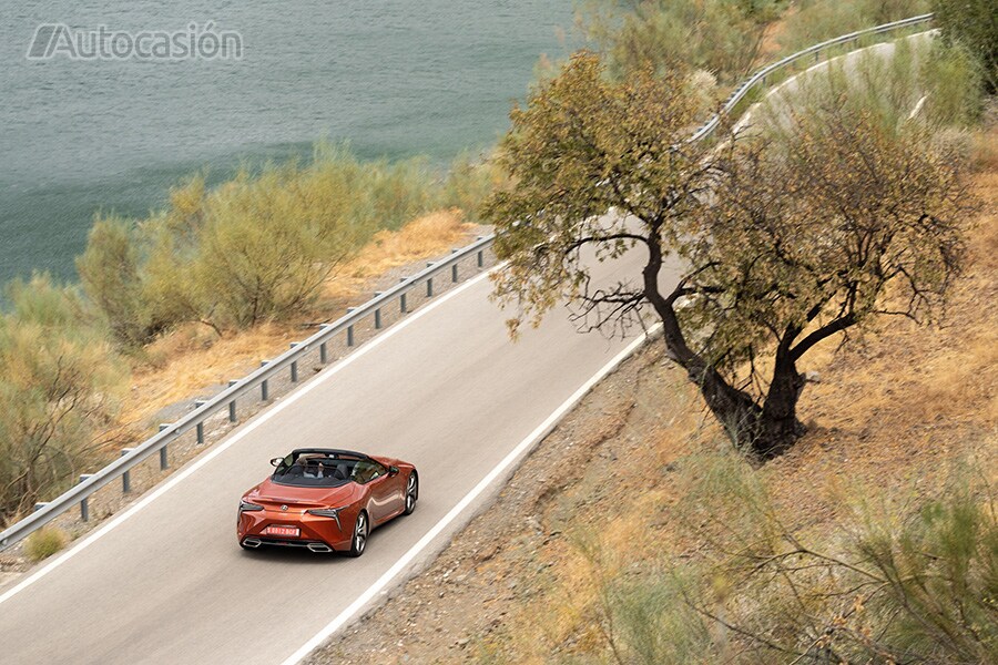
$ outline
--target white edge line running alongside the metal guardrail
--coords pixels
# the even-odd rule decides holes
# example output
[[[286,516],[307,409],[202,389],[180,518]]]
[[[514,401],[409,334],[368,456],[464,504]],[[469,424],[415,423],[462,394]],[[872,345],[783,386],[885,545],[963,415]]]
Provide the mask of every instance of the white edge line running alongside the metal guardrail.
[[[274,416],[276,416],[284,409],[286,409],[291,405],[295,403],[303,396],[307,395],[309,390],[312,390],[316,386],[320,386],[324,381],[328,380],[330,377],[337,375],[339,371],[342,371],[346,367],[349,367],[355,360],[357,360],[357,358],[360,358],[365,354],[370,351],[371,349],[377,348],[379,345],[384,344],[385,340],[390,339],[399,330],[404,330],[406,328],[406,326],[408,326],[409,324],[422,318],[424,316],[426,316],[427,314],[429,314],[430,311],[432,311],[434,309],[436,309],[437,307],[439,307],[440,305],[442,305],[450,298],[457,296],[458,294],[467,290],[471,286],[473,286],[473,285],[478,284],[479,282],[481,282],[482,279],[487,278],[493,270],[502,267],[502,265],[505,265],[505,264],[495,266],[491,269],[487,270],[486,273],[482,273],[481,275],[473,277],[472,279],[469,279],[468,282],[458,286],[457,288],[455,288],[450,291],[447,291],[442,296],[438,296],[438,298],[435,301],[429,303],[428,305],[425,305],[424,307],[417,309],[414,314],[410,314],[406,319],[391,326],[390,328],[385,330],[385,332],[375,337],[374,339],[371,339],[370,341],[368,341],[367,344],[365,344],[364,346],[358,348],[356,351],[354,351],[346,358],[337,361],[336,365],[334,365],[329,369],[327,369],[323,372],[319,372],[319,376],[316,377],[312,382],[306,383],[298,390],[292,392],[287,397],[286,400],[281,401],[277,405],[271,407],[269,409],[264,411],[264,413],[262,416],[259,416],[255,420],[249,421],[242,430],[240,430],[238,432],[233,434],[232,438],[230,438],[227,441],[222,441],[221,443],[216,444],[216,447],[212,451],[206,453],[203,458],[197,460],[194,464],[192,464],[187,469],[179,472],[176,475],[171,477],[165,483],[163,483],[160,488],[154,490],[150,495],[147,495],[144,499],[142,499],[141,501],[139,501],[139,503],[132,505],[125,512],[121,513],[120,515],[118,515],[116,518],[114,518],[113,520],[111,520],[110,522],[104,524],[103,526],[99,528],[96,531],[91,533],[84,540],[80,541],[77,545],[74,545],[72,549],[70,549],[64,554],[62,554],[59,559],[52,561],[51,563],[49,563],[48,565],[45,565],[44,567],[39,570],[37,573],[32,574],[27,580],[21,581],[19,584],[17,584],[16,586],[13,586],[9,591],[7,591],[3,595],[0,595],[0,604],[3,604],[4,602],[9,601],[11,597],[17,595],[18,593],[24,591],[26,589],[28,589],[29,586],[31,586],[32,584],[34,584],[35,582],[38,582],[39,580],[41,580],[42,577],[44,577],[45,575],[51,573],[53,570],[55,570],[57,567],[59,567],[60,565],[62,565],[63,563],[65,563],[67,561],[69,561],[70,559],[72,559],[73,556],[75,556],[77,554],[79,554],[80,552],[82,552],[83,550],[85,550],[86,548],[92,545],[93,543],[95,543],[96,541],[99,541],[100,539],[104,538],[108,533],[110,533],[111,531],[113,531],[114,529],[120,526],[125,520],[128,520],[129,518],[131,518],[132,515],[138,513],[140,510],[142,510],[143,508],[145,508],[146,505],[149,505],[150,503],[152,503],[153,501],[155,501],[156,499],[162,497],[164,493],[166,493],[167,491],[170,491],[171,489],[176,487],[185,478],[190,477],[192,473],[194,473],[195,471],[197,471],[198,469],[204,467],[206,463],[212,461],[214,458],[216,458],[217,456],[220,456],[223,452],[225,452],[226,450],[228,450],[232,446],[237,443],[243,437],[245,437],[246,434],[248,434],[249,432],[255,430],[261,424],[268,421],[271,418],[273,418]],[[235,505],[235,498],[233,499],[233,505]]]

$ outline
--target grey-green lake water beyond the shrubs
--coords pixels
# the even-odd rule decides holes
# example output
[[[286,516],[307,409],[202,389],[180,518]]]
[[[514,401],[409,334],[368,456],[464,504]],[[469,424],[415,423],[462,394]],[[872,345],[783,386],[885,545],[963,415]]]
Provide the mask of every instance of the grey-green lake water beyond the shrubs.
[[[508,127],[541,53],[561,55],[571,0],[0,0],[0,282],[74,278],[93,213],[143,215],[171,184],[308,154],[446,162]],[[213,22],[240,60],[48,60],[38,25],[181,31]]]

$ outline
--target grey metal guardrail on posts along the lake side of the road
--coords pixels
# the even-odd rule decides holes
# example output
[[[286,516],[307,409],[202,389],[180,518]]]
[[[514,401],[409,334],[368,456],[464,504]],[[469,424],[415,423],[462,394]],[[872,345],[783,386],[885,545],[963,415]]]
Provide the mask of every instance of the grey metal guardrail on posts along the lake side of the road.
[[[893,23],[885,23],[884,25],[877,25],[876,28],[870,28],[868,30],[852,32],[849,34],[822,42],[803,51],[798,51],[792,55],[787,55],[783,60],[762,68],[732,93],[727,102],[725,102],[725,104],[722,106],[721,112],[715,114],[711,120],[704,123],[703,126],[696,130],[696,132],[694,132],[691,136],[690,141],[700,141],[709,136],[721,123],[721,119],[725,114],[730,113],[734,109],[734,106],[745,98],[745,95],[752,88],[758,85],[760,83],[765,84],[766,76],[768,74],[772,74],[773,72],[781,70],[802,58],[805,58],[807,55],[819,55],[823,51],[832,47],[855,41],[860,37],[909,28],[913,25],[927,23],[931,19],[933,14],[929,13],[913,17],[910,19],[905,19],[902,21],[895,21]],[[31,532],[44,526],[50,521],[54,520],[60,514],[77,504],[80,505],[81,515],[85,521],[89,516],[89,507],[86,500],[99,489],[119,478],[122,478],[124,491],[128,491],[129,471],[134,469],[138,464],[145,461],[155,453],[160,454],[160,467],[162,469],[166,469],[166,448],[171,442],[175,441],[181,436],[192,430],[196,432],[198,442],[202,442],[204,438],[204,421],[225,409],[228,410],[228,419],[232,422],[237,422],[237,401],[249,396],[249,392],[252,390],[259,389],[259,396],[265,401],[267,399],[267,380],[275,378],[278,372],[284,370],[289,370],[292,382],[297,382],[297,364],[303,359],[305,354],[318,348],[320,361],[323,364],[326,364],[328,361],[326,345],[333,341],[334,337],[336,337],[337,335],[346,334],[347,346],[353,346],[354,326],[366,319],[368,316],[374,316],[375,328],[380,328],[381,309],[387,305],[395,303],[396,300],[399,305],[399,311],[401,314],[406,314],[408,310],[406,294],[415,289],[417,286],[425,285],[426,296],[432,297],[434,278],[449,268],[451,282],[457,282],[458,265],[462,259],[468,258],[472,255],[477,255],[478,266],[481,267],[483,265],[482,253],[492,244],[495,238],[495,235],[480,237],[471,245],[468,245],[462,249],[455,250],[450,256],[437,263],[429,264],[424,270],[406,278],[404,282],[397,284],[393,288],[377,295],[375,298],[368,300],[363,306],[349,310],[345,316],[340,317],[335,323],[324,325],[318,332],[316,332],[308,339],[292,345],[291,349],[288,349],[277,358],[274,358],[264,364],[262,367],[259,367],[259,369],[253,371],[243,379],[233,381],[227,389],[223,390],[212,399],[204,401],[200,400],[195,402],[196,408],[193,411],[191,411],[176,422],[161,426],[159,433],[146,439],[138,447],[126,448],[122,450],[122,457],[120,459],[108,464],[96,473],[81,475],[80,482],[78,484],[67,490],[54,500],[47,503],[37,504],[37,510],[32,514],[12,524],[2,533],[0,533],[0,551],[10,548],[14,543],[27,538],[29,534],[31,534]]]

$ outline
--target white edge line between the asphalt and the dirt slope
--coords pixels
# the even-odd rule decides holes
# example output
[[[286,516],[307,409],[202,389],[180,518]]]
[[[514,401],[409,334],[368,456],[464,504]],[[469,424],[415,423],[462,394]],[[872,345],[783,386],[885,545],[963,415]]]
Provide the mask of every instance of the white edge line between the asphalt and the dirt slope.
[[[541,438],[546,437],[561,420],[561,417],[564,416],[569,410],[571,410],[579,401],[582,400],[585,395],[592,390],[593,386],[600,382],[607,375],[613,371],[618,365],[620,365],[625,358],[628,358],[631,354],[634,352],[639,346],[641,346],[652,334],[654,334],[659,328],[662,327],[662,324],[656,324],[649,328],[649,330],[632,341],[628,347],[613,357],[607,365],[604,365],[591,379],[589,379],[585,383],[582,385],[576,392],[572,393],[558,409],[548,416],[547,420],[540,423],[537,429],[530,432],[526,439],[520,441],[516,448],[507,454],[501,462],[499,462],[496,468],[493,468],[488,475],[481,479],[475,488],[471,489],[470,492],[465,494],[465,498],[461,499],[457,505],[450,509],[444,518],[434,525],[432,529],[426,532],[426,534],[419,539],[419,541],[413,545],[413,548],[403,554],[403,556],[395,562],[395,564],[388,569],[385,574],[383,574],[377,582],[375,582],[371,586],[367,589],[360,596],[358,596],[350,605],[340,612],[336,618],[329,622],[326,627],[316,633],[316,635],[306,642],[298,651],[293,653],[287,659],[282,663],[282,665],[297,665],[301,663],[313,649],[315,649],[318,645],[325,642],[329,636],[333,635],[336,631],[342,628],[344,624],[346,624],[355,614],[357,614],[371,598],[375,597],[383,589],[388,586],[389,583],[394,580],[396,575],[398,575],[403,569],[405,569],[413,560],[425,550],[432,541],[436,539],[451,522],[454,522],[457,516],[471,504],[475,499],[478,498],[490,484],[492,484],[496,479],[498,479],[509,467],[512,466],[513,462],[517,461],[520,456],[527,452],[531,446],[537,443]]]

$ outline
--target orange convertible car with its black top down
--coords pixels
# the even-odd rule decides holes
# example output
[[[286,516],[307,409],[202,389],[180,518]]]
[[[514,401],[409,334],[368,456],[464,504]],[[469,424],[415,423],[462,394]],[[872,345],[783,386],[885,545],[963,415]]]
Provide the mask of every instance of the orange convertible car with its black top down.
[[[370,530],[416,510],[413,464],[352,450],[304,448],[274,458],[274,473],[243,494],[240,545],[307,548],[360,556]]]

